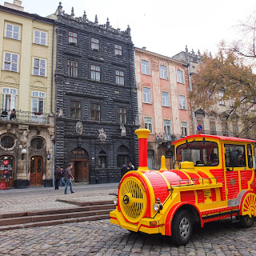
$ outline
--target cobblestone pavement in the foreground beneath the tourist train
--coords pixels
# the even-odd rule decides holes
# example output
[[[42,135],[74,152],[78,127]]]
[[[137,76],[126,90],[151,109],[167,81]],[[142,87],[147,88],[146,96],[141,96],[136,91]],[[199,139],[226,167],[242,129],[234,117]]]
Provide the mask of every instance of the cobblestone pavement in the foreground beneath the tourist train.
[[[77,222],[0,233],[0,255],[256,255],[256,223],[241,229],[228,220],[194,227],[186,246],[161,235],[133,234],[110,220]]]

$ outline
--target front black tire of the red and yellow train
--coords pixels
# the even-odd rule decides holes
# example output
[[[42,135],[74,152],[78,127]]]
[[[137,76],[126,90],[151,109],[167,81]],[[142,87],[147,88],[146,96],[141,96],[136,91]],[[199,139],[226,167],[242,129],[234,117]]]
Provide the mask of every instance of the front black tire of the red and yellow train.
[[[174,215],[171,225],[172,241],[177,246],[185,246],[192,236],[193,224],[187,210],[180,210]]]

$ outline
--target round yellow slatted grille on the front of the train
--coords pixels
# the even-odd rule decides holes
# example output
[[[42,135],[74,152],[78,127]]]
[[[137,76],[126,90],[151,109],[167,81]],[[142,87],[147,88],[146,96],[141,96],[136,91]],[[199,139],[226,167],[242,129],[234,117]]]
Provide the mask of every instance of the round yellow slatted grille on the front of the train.
[[[139,222],[146,213],[146,191],[138,178],[126,178],[119,189],[122,214],[129,222]]]

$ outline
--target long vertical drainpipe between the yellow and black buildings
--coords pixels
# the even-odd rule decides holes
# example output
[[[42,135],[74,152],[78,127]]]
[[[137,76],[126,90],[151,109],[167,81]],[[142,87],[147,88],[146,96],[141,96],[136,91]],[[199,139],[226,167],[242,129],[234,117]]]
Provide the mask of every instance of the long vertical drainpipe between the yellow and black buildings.
[[[55,141],[56,141],[56,114],[53,111],[55,25],[56,25],[56,21],[54,21],[54,28],[53,28],[53,42],[52,42],[52,51],[51,51],[51,81],[50,81],[50,113],[54,115],[53,186],[54,186],[54,166],[55,166]],[[54,102],[56,102],[56,86],[55,86]]]

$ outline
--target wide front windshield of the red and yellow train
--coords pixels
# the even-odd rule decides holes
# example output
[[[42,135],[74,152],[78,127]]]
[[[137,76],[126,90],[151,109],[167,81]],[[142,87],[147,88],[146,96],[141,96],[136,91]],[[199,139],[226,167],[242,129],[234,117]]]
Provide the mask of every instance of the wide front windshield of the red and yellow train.
[[[188,142],[177,147],[177,160],[194,162],[194,166],[218,166],[216,142]]]

